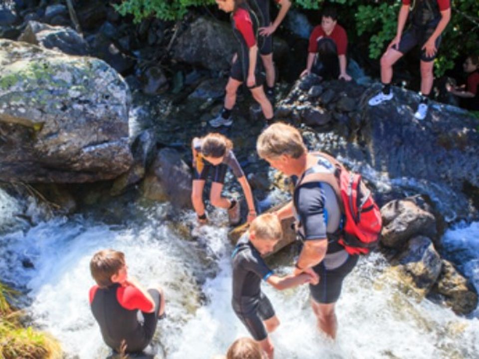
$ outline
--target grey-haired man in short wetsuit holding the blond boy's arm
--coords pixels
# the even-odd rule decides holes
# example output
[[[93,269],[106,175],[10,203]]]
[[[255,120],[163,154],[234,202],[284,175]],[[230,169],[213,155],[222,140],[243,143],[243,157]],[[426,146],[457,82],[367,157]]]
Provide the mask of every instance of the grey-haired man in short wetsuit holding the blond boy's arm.
[[[287,176],[301,179],[311,172],[334,171],[324,157],[308,153],[301,134],[290,125],[276,123],[259,136],[256,149],[259,157]],[[294,274],[313,271],[319,283],[309,286],[311,307],[318,328],[331,338],[336,337],[335,303],[341,294],[344,278],[353,270],[357,255],[349,255],[338,242],[337,230],[341,210],[333,188],[322,182],[308,182],[295,188],[291,202],[276,211],[279,219],[294,216],[303,247]]]

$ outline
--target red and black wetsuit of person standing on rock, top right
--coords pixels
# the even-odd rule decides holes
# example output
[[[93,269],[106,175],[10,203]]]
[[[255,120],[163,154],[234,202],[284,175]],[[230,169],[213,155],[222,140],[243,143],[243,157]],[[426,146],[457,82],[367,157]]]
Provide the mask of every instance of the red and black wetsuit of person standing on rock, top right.
[[[403,5],[411,6],[410,21],[411,25],[401,37],[398,51],[403,54],[409,52],[414,46],[421,47],[431,37],[436,27],[441,21],[441,11],[451,7],[451,0],[402,0]],[[441,44],[441,36],[436,39],[436,49]],[[436,58],[427,56],[426,50],[421,50],[421,60],[429,62]]]

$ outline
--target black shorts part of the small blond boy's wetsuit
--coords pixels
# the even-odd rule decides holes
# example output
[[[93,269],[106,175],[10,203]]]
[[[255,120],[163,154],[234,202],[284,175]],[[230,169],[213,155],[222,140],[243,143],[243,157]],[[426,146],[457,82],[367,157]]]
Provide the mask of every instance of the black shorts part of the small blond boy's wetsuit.
[[[260,294],[256,308],[252,310],[249,308],[243,310],[235,309],[235,313],[255,341],[266,339],[268,333],[266,332],[266,328],[264,328],[263,321],[274,317],[274,309],[268,297],[266,297],[263,292]]]

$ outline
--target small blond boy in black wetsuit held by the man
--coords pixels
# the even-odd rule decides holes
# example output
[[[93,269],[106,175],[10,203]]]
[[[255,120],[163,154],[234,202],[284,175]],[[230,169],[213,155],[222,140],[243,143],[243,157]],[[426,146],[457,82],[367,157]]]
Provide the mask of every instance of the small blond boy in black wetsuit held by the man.
[[[249,231],[241,236],[232,254],[233,310],[269,359],[273,358],[274,348],[268,333],[277,328],[279,321],[271,302],[261,291],[261,279],[278,290],[317,283],[318,280],[306,273],[282,278],[273,274],[261,255],[272,252],[281,236],[277,216],[262,214],[252,221]]]

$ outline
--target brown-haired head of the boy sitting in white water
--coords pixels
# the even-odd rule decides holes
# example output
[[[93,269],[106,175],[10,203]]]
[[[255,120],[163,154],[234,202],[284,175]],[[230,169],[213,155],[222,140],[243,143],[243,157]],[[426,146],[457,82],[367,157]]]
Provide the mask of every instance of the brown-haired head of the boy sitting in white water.
[[[91,276],[99,287],[105,288],[113,284],[111,276],[117,274],[125,265],[125,254],[114,249],[96,252],[90,261]]]

